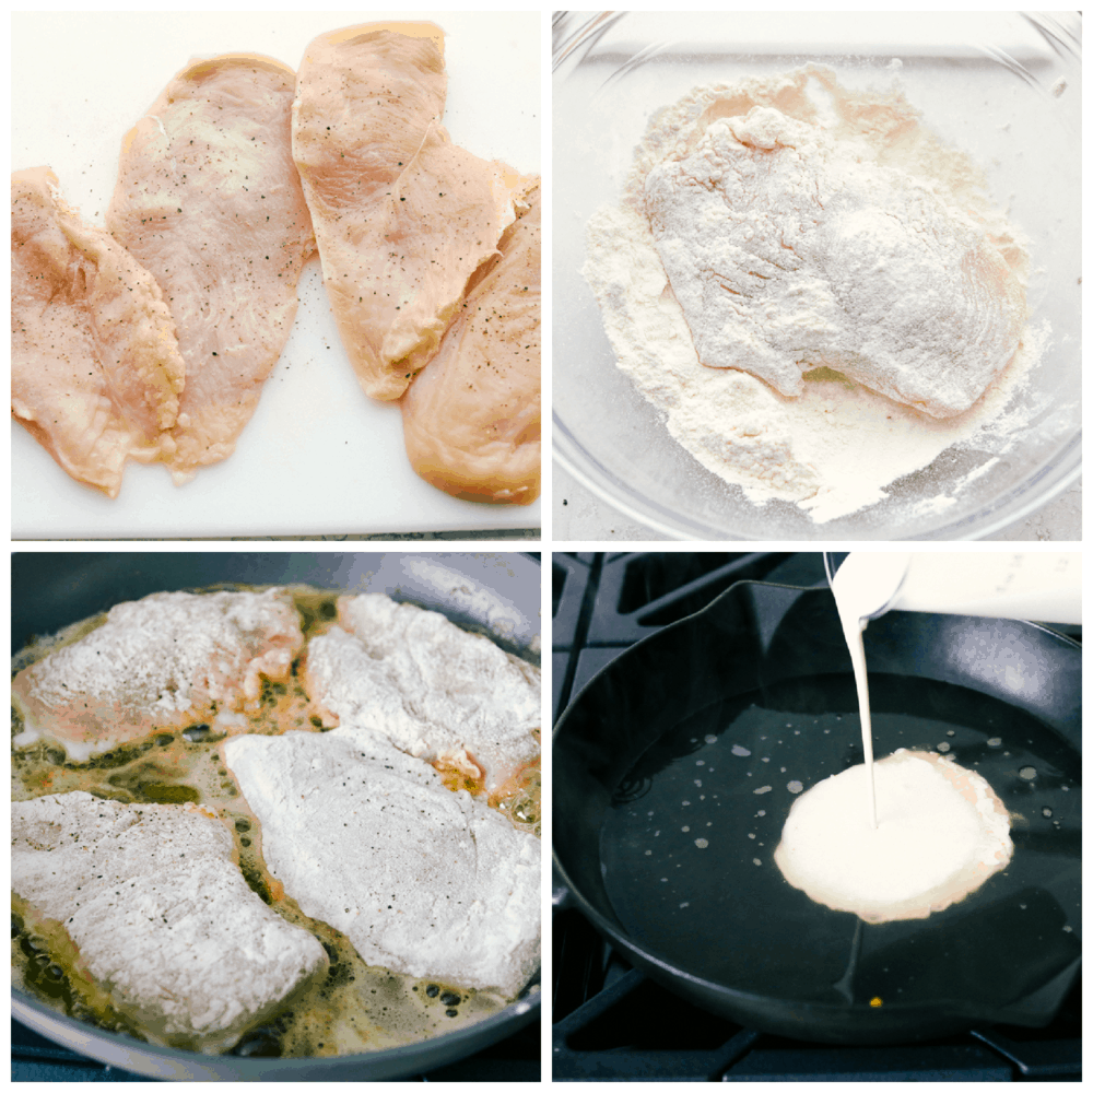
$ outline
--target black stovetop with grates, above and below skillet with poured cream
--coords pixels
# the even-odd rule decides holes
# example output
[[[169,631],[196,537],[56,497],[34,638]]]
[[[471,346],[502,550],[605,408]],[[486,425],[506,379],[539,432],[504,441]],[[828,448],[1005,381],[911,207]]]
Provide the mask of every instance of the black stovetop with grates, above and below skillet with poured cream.
[[[822,556],[553,555],[553,709],[634,642],[737,580],[825,587]],[[1080,628],[1068,627],[1081,639]],[[564,901],[563,901],[564,905]],[[712,1015],[632,968],[575,909],[553,924],[555,1081],[1080,1081],[1081,982],[1046,1029],[893,1047],[790,1041]]]

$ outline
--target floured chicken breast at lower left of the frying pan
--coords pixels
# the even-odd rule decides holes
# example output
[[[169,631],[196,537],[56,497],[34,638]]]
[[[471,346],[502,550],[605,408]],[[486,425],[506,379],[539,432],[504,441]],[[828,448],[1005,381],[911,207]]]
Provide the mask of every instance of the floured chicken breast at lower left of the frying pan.
[[[247,886],[193,804],[58,794],[11,807],[12,891],[62,922],[113,1004],[156,1043],[220,1053],[329,965]]]

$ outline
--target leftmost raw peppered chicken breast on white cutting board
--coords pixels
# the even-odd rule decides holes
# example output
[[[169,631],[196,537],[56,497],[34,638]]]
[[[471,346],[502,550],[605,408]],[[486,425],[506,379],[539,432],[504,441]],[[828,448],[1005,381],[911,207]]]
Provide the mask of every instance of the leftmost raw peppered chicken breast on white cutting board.
[[[87,227],[48,167],[11,176],[11,412],[110,497],[126,459],[171,450],[185,365],[152,274]]]

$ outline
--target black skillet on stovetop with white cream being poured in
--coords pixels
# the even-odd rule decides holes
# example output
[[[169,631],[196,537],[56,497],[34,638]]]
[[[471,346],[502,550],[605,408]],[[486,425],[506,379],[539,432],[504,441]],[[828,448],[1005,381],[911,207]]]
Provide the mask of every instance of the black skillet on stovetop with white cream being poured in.
[[[895,611],[866,655],[877,755],[947,751],[983,774],[1012,818],[1006,870],[883,925],[783,879],[795,794],[862,762],[860,725],[831,592],[742,581],[560,719],[562,904],[650,978],[760,1031],[894,1044],[1047,1024],[1080,964],[1081,648],[1032,623]]]

